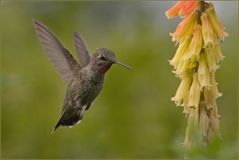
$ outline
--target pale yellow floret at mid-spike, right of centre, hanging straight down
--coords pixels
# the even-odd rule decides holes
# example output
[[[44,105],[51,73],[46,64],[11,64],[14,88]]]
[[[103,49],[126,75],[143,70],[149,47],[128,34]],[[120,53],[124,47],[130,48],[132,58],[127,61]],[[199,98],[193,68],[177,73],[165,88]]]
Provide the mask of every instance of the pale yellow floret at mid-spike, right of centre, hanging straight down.
[[[203,89],[205,86],[210,86],[210,75],[207,65],[207,57],[204,52],[201,52],[198,66],[198,80],[200,88]]]

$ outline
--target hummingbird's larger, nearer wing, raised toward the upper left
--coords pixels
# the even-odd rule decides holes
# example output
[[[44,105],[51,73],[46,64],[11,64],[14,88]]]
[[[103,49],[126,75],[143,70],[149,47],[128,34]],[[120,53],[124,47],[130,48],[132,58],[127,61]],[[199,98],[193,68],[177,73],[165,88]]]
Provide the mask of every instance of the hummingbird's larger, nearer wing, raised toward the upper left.
[[[80,65],[45,25],[38,20],[33,20],[33,24],[38,39],[45,49],[50,61],[60,73],[60,76],[65,81],[70,82],[76,71],[80,69]]]

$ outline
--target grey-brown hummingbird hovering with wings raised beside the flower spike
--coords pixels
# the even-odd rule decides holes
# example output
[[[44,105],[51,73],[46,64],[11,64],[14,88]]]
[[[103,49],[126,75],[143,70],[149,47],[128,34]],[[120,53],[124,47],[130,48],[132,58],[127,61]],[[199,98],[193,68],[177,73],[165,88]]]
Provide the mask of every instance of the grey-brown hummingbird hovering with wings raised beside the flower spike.
[[[113,64],[129,70],[132,68],[117,61],[114,52],[107,48],[97,48],[91,56],[82,36],[74,32],[73,39],[80,62],[77,63],[46,25],[38,20],[33,20],[33,25],[50,62],[67,83],[60,119],[52,130],[54,133],[60,126],[73,127],[81,122],[84,112],[102,90],[105,73]]]

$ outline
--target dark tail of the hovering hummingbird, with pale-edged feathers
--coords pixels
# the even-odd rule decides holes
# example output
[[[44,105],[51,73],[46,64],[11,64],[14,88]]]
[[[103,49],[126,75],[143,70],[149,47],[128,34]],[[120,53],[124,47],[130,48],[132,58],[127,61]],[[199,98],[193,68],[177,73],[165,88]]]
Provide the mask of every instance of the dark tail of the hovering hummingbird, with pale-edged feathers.
[[[55,127],[52,130],[52,133],[56,131],[56,129],[60,126],[67,126],[67,127],[73,127],[76,124],[79,124],[83,118],[83,113],[85,111],[86,107],[82,108],[73,108],[69,107],[67,108],[61,115],[61,118],[55,125]]]

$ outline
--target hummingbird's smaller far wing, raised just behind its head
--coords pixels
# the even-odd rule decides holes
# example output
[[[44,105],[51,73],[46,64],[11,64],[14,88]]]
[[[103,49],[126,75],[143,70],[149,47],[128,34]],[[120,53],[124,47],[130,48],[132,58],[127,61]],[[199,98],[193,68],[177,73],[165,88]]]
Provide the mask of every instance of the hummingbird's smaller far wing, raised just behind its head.
[[[80,36],[79,33],[74,33],[74,42],[75,42],[75,48],[76,52],[78,54],[78,58],[80,60],[81,67],[87,66],[90,62],[90,54],[87,49],[86,43],[84,42],[83,38]]]

